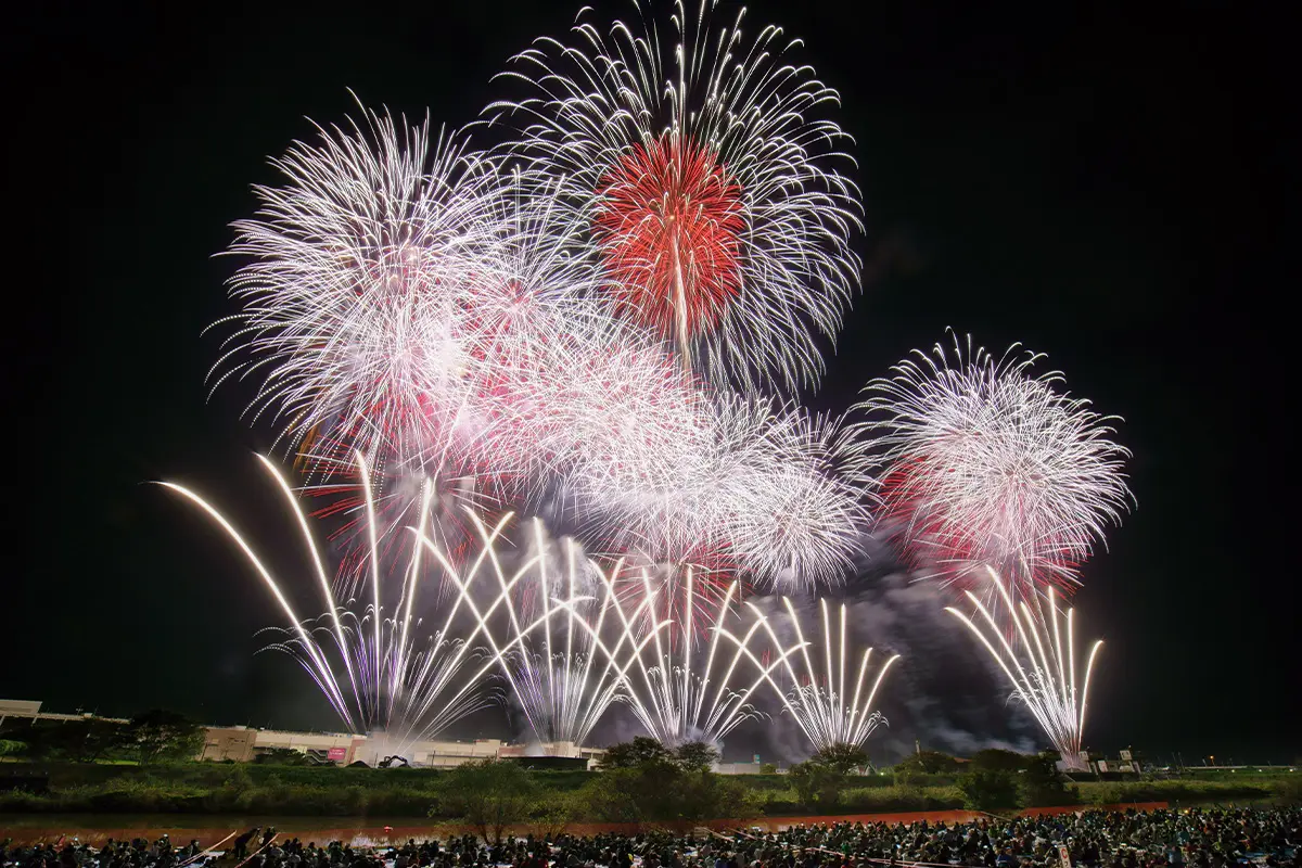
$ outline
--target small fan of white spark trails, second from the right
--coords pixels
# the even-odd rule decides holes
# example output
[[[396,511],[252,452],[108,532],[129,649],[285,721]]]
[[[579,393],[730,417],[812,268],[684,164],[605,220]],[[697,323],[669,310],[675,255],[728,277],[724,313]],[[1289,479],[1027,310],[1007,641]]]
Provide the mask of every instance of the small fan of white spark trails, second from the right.
[[[849,631],[846,625],[846,605],[841,604],[840,635],[835,635],[831,617],[828,616],[827,600],[820,600],[823,612],[823,666],[815,666],[810,657],[810,644],[805,639],[801,629],[801,619],[796,614],[796,608],[789,597],[783,597],[790,626],[796,634],[796,645],[785,649],[777,638],[776,631],[768,618],[754,604],[747,604],[755,613],[758,622],[764,625],[768,636],[773,643],[773,652],[784,661],[789,687],[784,690],[772,677],[768,683],[783,701],[783,711],[788,712],[799,725],[801,730],[814,744],[815,751],[822,751],[836,744],[862,746],[872,730],[885,724],[881,712],[874,711],[872,703],[876,699],[878,688],[885,679],[891,666],[900,660],[900,655],[888,657],[876,678],[868,683],[868,666],[872,658],[872,648],[866,648],[859,658],[855,675],[846,682],[846,664],[850,657]],[[835,643],[835,644],[833,644]],[[797,673],[790,662],[793,649],[801,651],[805,662],[803,674]],[[867,692],[865,692],[867,688]],[[853,691],[853,692],[852,692]]]

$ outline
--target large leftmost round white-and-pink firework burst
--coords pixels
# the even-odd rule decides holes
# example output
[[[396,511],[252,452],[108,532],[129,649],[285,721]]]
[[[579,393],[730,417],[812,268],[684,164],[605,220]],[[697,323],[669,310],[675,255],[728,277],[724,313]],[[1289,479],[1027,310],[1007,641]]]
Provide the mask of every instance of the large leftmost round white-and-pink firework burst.
[[[320,429],[385,465],[454,440],[470,363],[456,312],[497,241],[500,185],[456,137],[365,120],[318,128],[272,161],[284,186],[255,187],[229,251],[247,258],[230,280],[243,311],[212,376],[260,379],[250,409],[292,446]]]

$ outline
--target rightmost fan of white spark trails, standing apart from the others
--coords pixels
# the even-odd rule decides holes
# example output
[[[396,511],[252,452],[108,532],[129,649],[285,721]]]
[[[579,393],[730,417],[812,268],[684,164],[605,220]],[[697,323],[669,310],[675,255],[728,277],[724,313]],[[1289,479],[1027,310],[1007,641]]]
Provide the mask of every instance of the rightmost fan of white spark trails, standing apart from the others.
[[[1014,696],[1022,700],[1046,735],[1062,755],[1069,768],[1081,769],[1081,737],[1085,731],[1085,712],[1090,695],[1090,677],[1094,660],[1103,647],[1098,639],[1090,647],[1085,661],[1081,691],[1077,692],[1075,634],[1072,609],[1059,609],[1052,586],[1034,608],[1026,600],[1014,604],[1013,595],[999,574],[987,567],[999,597],[1012,613],[1014,636],[995,621],[995,616],[982,600],[966,591],[975,612],[982,616],[976,623],[953,606],[945,610],[962,621],[980,640],[1008,679],[1013,682]],[[1064,643],[1065,634],[1065,643]],[[1014,647],[1016,643],[1016,647]]]

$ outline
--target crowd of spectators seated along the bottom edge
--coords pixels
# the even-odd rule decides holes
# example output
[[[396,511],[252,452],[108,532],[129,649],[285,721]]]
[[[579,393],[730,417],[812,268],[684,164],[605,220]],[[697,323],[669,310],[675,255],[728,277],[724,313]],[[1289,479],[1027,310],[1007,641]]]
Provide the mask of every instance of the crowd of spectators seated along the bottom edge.
[[[406,843],[333,841],[326,846],[250,829],[204,850],[198,841],[77,841],[0,845],[16,868],[875,868],[973,865],[1056,868],[1062,848],[1087,868],[1230,868],[1297,865],[1302,808],[1087,811],[970,822],[833,822],[687,835],[533,835],[486,843],[473,835]]]

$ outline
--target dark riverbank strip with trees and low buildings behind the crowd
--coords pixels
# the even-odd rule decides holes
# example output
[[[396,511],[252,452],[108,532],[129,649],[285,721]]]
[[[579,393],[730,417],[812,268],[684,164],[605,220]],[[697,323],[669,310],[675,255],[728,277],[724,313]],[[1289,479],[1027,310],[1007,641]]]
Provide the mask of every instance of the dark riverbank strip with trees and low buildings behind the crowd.
[[[777,828],[801,817],[927,811],[1289,803],[1302,787],[1297,766],[1213,766],[1215,757],[1203,757],[1197,766],[1165,768],[1131,751],[1111,763],[1078,757],[1087,770],[1070,774],[1052,753],[1004,750],[969,757],[918,751],[878,768],[861,750],[836,746],[779,766],[721,764],[704,743],[671,750],[646,737],[587,751],[430,742],[415,746],[413,765],[385,756],[376,747],[383,739],[201,726],[167,712],[132,720],[51,714],[31,705],[7,703],[12,713],[0,727],[0,822],[29,830],[68,822],[87,833],[124,822],[215,829],[232,816],[280,817],[281,828],[306,822],[292,817],[345,817],[358,833],[422,817],[474,830],[486,812],[539,835],[591,824],[746,820]],[[341,828],[316,828],[327,826]]]

